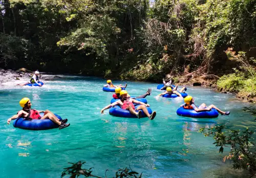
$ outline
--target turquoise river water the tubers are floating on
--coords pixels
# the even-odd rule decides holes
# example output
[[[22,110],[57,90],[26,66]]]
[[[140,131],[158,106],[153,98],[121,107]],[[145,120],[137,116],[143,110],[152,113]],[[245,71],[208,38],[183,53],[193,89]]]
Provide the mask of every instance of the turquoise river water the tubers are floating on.
[[[114,84],[124,84],[115,81]],[[218,177],[233,172],[225,154],[197,130],[212,123],[182,122],[176,115],[183,103],[179,98],[157,98],[161,93],[157,83],[130,82],[127,91],[132,96],[153,88],[146,99],[157,116],[150,121],[104,115],[100,109],[110,103],[113,93],[102,92],[105,80],[94,77],[63,76],[45,81],[43,87],[20,87],[13,83],[0,86],[0,171],[1,177],[59,177],[68,162],[87,161],[94,174],[114,175],[118,168],[131,166],[143,177]],[[255,130],[253,118],[242,112],[248,103],[234,95],[220,94],[203,87],[188,87],[187,93],[196,103],[215,104],[230,110],[229,116],[214,119],[228,126]],[[30,131],[14,128],[7,119],[20,109],[19,100],[29,97],[32,108],[49,109],[71,125],[65,129]],[[229,148],[225,148],[227,153]],[[231,171],[230,171],[231,170]],[[230,173],[231,174],[231,173]],[[241,177],[242,173],[229,177]]]

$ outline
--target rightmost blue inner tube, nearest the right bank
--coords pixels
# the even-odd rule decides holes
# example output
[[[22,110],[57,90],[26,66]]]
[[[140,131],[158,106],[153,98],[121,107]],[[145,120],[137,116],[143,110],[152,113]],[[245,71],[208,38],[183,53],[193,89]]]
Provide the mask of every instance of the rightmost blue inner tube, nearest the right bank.
[[[210,111],[196,112],[194,109],[184,109],[180,107],[177,109],[177,115],[191,117],[191,118],[217,118],[219,113],[216,109],[211,109]]]

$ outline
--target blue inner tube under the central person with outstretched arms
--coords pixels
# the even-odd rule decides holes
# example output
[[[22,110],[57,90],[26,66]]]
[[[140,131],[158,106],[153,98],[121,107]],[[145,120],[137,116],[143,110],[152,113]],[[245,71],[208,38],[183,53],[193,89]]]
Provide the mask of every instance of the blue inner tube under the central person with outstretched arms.
[[[138,106],[139,105],[135,106],[135,108],[137,108]],[[150,107],[146,107],[146,108],[147,108],[148,113],[151,115],[152,114],[151,108]],[[143,112],[143,110],[141,110],[141,112],[142,112],[142,115],[141,115],[142,118],[147,117],[145,115],[145,113]],[[110,109],[110,115],[116,116],[116,117],[122,117],[122,118],[137,118],[136,115],[131,114],[129,110],[122,109],[120,106],[112,107]]]

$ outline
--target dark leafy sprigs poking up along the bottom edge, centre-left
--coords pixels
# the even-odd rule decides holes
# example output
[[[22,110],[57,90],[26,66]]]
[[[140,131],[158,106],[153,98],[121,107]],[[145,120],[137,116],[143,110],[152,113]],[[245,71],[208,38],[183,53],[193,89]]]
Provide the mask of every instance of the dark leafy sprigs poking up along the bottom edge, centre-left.
[[[90,168],[90,169],[82,169],[82,165],[85,164],[86,162],[77,162],[75,164],[73,163],[70,163],[72,164],[71,167],[67,167],[67,168],[64,168],[65,170],[61,173],[61,176],[60,177],[65,177],[66,175],[71,175],[70,177],[72,178],[75,178],[75,177],[78,177],[80,175],[84,175],[84,177],[98,177],[98,178],[102,178],[101,176],[96,176],[96,175],[93,175],[92,172],[93,172],[93,168]],[[108,171],[108,169],[106,170]],[[105,171],[105,174],[106,174],[106,171]],[[128,169],[128,168],[123,168],[123,169],[118,169],[118,171],[115,173],[115,177],[113,178],[124,178],[124,177],[134,177],[134,178],[141,178],[142,176],[142,173],[139,174],[138,172],[135,172],[133,171],[131,168]],[[106,175],[105,175],[106,177]]]

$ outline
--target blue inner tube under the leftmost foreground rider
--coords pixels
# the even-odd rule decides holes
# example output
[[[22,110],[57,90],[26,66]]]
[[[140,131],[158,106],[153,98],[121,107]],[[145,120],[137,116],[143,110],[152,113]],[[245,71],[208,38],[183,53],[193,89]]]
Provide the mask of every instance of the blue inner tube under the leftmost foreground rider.
[[[39,114],[41,117],[44,116],[44,113]],[[62,120],[60,116],[55,116]],[[48,130],[51,128],[58,128],[59,125],[52,122],[50,119],[33,119],[31,121],[25,120],[24,118],[17,118],[13,123],[14,127],[22,128],[26,130]]]

